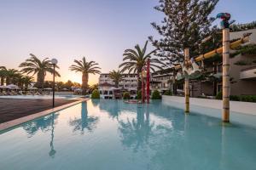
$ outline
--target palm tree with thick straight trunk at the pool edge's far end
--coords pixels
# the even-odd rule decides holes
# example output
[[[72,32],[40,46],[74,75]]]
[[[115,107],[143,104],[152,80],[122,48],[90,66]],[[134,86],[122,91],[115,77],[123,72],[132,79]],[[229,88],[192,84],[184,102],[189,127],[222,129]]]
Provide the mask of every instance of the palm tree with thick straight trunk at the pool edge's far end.
[[[82,94],[86,94],[88,87],[89,74],[100,74],[100,67],[95,61],[86,61],[85,57],[82,60],[74,59],[76,65],[71,65],[69,68],[71,71],[81,72],[82,73]]]

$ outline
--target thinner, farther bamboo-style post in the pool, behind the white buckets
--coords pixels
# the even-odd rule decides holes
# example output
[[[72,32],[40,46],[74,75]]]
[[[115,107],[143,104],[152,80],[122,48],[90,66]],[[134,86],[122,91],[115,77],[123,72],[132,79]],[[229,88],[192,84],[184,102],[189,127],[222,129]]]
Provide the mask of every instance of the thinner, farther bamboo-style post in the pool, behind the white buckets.
[[[189,48],[184,49],[184,61],[185,65],[187,65],[189,61]],[[189,78],[185,78],[184,82],[185,86],[185,112],[189,113]]]

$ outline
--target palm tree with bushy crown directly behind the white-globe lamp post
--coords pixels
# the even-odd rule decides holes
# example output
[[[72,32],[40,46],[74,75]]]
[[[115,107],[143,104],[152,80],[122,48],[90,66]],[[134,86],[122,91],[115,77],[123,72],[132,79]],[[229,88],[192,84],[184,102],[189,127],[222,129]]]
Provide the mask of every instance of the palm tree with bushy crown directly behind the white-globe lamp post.
[[[32,76],[37,74],[37,85],[38,88],[44,88],[44,77],[47,72],[53,74],[53,66],[49,58],[43,60],[38,59],[34,54],[30,54],[31,58],[26,59],[25,62],[20,64],[21,72],[26,74],[31,74]],[[59,69],[58,65],[55,65],[55,68]],[[55,71],[56,77],[61,77],[58,71]]]

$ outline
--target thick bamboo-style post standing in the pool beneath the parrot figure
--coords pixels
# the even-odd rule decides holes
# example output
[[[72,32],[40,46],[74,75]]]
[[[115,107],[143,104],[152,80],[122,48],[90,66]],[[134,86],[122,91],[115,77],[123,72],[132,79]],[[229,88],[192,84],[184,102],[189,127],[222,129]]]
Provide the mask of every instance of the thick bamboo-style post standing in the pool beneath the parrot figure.
[[[230,122],[230,28],[223,29],[222,120]]]

